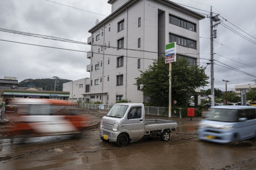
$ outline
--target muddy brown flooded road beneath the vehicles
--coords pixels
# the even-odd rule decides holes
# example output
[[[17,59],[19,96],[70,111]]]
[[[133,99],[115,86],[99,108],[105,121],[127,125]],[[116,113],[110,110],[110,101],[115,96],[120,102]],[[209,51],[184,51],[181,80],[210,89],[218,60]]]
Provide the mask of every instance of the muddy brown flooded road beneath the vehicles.
[[[11,141],[5,133],[10,124],[0,124],[0,169],[237,169],[256,170],[256,140],[236,144],[215,144],[197,138],[203,118],[174,118],[177,131],[169,142],[160,138],[134,141],[126,147],[102,142],[99,123],[106,111],[75,108],[79,115],[91,116],[81,139],[72,135],[33,137]],[[11,117],[11,113],[6,113]],[[146,116],[155,118],[155,116]],[[167,117],[161,117],[168,119]]]

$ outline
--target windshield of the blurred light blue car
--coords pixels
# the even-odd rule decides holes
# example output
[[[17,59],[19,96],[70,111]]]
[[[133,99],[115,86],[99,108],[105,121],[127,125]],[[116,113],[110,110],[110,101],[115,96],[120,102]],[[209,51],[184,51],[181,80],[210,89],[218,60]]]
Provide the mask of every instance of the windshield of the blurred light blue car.
[[[237,122],[237,115],[238,110],[236,109],[212,108],[207,119],[220,122]]]

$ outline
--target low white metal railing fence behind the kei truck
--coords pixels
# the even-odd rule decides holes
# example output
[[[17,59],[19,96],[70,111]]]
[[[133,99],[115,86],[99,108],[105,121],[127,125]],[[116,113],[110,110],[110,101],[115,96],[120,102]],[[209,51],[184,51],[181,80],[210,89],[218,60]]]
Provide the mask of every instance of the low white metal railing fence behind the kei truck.
[[[104,104],[104,109],[100,108],[103,104],[85,104],[85,103],[77,103],[74,106],[85,109],[93,109],[93,110],[107,110],[109,111],[114,104]],[[145,106],[145,114],[146,115],[158,115],[158,116],[169,116],[168,107],[150,107]],[[181,108],[172,108],[171,117],[182,118],[182,109]]]

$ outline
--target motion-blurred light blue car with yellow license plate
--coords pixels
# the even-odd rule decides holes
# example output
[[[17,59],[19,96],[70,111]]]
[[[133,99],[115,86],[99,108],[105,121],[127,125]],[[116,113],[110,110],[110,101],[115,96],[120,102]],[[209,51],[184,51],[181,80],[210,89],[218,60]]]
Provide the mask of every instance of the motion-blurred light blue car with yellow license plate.
[[[256,136],[256,107],[216,106],[200,123],[199,139],[230,143]]]

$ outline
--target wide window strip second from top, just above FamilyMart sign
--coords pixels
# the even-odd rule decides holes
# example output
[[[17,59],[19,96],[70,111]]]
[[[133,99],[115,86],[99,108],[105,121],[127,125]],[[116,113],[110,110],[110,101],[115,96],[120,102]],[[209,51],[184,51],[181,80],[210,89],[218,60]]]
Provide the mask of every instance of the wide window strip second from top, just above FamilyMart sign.
[[[169,34],[169,42],[176,42],[177,44],[181,45],[181,46],[185,46],[185,47],[189,47],[189,48],[194,48],[196,49],[196,44],[197,42],[194,40],[190,40],[187,39],[185,37],[181,37],[178,35],[174,35],[174,34]]]

